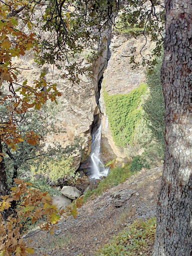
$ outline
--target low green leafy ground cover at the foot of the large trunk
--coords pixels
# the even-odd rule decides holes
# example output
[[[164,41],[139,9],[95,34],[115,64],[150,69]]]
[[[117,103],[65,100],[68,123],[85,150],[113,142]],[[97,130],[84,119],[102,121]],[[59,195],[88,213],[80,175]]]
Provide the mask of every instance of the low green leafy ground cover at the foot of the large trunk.
[[[145,255],[155,238],[156,219],[136,220],[119,232],[96,256]]]

